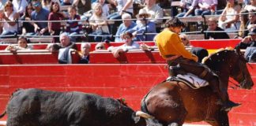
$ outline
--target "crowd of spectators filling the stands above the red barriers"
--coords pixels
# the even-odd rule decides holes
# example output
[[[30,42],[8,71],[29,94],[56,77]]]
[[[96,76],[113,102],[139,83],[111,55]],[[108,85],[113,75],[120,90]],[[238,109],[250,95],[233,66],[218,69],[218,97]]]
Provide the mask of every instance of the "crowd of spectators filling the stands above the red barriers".
[[[137,13],[134,11],[135,2],[141,6]],[[254,46],[256,30],[254,0],[228,0],[224,3],[218,0],[181,0],[179,8],[182,13],[175,13],[176,7],[171,6],[170,2],[157,0],[1,1],[0,38],[17,37],[17,35],[24,35],[27,38],[34,35],[52,35],[54,37],[52,43],[62,45],[60,36],[65,33],[71,43],[83,42],[85,39],[88,42],[124,42],[125,44],[120,47],[108,49],[104,47],[118,57],[121,51],[126,52],[140,47],[143,50],[146,45],[139,46],[136,41],[154,41],[155,36],[164,30],[166,3],[171,8],[173,17],[214,15],[207,18],[205,39],[229,39],[228,31],[235,31],[237,33],[235,38],[243,39],[239,44],[243,49]],[[69,6],[67,12],[61,11],[62,6]],[[65,29],[62,29],[60,22],[62,20],[65,20]],[[200,25],[201,22],[197,24]],[[24,37],[20,37],[18,42],[22,38]],[[188,39],[186,35],[180,38]],[[62,46],[58,49],[61,48]],[[28,46],[6,48],[12,51],[23,49],[32,48]]]

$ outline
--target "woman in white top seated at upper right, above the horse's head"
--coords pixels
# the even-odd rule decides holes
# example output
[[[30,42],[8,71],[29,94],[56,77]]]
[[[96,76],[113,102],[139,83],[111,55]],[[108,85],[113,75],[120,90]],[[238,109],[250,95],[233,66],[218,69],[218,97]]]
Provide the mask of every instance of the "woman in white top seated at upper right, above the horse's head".
[[[219,18],[219,27],[225,31],[235,31],[240,27],[239,15],[241,6],[235,0],[228,0],[227,6]]]

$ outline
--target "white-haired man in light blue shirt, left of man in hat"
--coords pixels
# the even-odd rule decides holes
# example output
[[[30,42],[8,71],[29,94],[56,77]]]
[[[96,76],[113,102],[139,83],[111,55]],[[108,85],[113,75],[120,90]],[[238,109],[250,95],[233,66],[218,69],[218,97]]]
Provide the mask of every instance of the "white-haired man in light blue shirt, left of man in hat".
[[[131,28],[134,28],[136,26],[136,23],[131,20],[131,16],[128,13],[122,14],[122,24],[119,26],[118,31],[115,33],[115,42],[122,42],[123,39],[121,39],[121,36],[126,31],[130,30]]]

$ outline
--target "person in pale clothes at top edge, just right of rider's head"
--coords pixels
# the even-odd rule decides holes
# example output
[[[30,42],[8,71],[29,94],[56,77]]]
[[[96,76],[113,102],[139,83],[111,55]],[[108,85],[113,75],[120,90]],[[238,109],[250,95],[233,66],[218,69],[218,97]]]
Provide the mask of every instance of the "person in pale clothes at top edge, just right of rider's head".
[[[181,0],[180,6],[183,8],[183,13],[179,13],[176,17],[192,17],[194,9],[198,6],[198,0]]]

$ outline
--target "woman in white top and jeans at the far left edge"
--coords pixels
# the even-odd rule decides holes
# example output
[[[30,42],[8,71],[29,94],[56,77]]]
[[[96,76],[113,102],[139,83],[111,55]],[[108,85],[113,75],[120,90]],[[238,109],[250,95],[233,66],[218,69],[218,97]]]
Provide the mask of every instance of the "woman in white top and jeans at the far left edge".
[[[1,38],[13,38],[17,34],[17,23],[15,20],[18,20],[20,15],[16,13],[13,9],[13,3],[8,1],[6,2],[4,13],[0,13],[0,18],[5,21],[3,22],[2,34],[1,35],[11,35],[11,36],[2,36]]]

